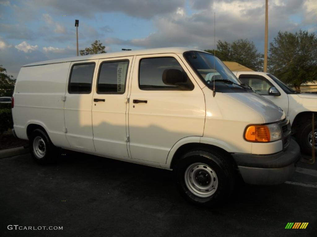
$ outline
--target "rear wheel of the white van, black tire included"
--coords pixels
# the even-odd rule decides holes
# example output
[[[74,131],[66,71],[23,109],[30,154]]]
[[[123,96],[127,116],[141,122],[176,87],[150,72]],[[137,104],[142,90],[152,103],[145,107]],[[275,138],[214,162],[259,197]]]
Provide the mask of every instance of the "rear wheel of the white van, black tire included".
[[[56,160],[56,147],[46,132],[35,129],[29,137],[29,148],[33,159],[41,165],[51,164]]]

